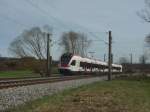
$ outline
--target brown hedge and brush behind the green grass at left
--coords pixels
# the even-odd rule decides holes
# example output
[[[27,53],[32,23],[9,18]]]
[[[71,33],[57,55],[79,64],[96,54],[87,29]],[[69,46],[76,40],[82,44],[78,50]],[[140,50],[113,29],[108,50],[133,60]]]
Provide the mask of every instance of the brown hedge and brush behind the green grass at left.
[[[56,68],[58,61],[52,61],[52,67]],[[46,60],[38,60],[33,57],[3,58],[0,57],[0,71],[31,70],[35,73],[46,71]]]

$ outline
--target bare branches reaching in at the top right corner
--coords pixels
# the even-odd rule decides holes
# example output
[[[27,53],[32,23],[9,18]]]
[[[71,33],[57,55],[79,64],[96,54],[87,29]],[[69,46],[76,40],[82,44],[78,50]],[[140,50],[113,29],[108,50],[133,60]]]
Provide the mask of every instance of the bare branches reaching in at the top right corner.
[[[150,0],[145,0],[146,7],[138,12],[138,16],[140,16],[144,21],[150,22]]]

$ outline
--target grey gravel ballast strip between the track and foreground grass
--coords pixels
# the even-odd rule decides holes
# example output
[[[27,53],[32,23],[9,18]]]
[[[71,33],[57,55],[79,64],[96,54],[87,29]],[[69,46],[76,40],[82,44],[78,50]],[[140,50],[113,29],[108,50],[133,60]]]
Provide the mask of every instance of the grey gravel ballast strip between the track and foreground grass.
[[[61,81],[55,83],[36,84],[0,90],[0,112],[31,100],[51,95],[64,89],[76,88],[81,85],[106,80],[106,77],[92,77]]]

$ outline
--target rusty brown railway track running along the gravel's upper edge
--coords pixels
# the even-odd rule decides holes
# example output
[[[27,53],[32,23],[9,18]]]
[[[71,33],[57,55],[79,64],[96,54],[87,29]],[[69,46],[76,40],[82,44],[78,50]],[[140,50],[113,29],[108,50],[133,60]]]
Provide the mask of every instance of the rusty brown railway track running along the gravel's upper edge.
[[[97,75],[94,75],[97,76]],[[94,77],[93,75],[0,80],[0,89]]]

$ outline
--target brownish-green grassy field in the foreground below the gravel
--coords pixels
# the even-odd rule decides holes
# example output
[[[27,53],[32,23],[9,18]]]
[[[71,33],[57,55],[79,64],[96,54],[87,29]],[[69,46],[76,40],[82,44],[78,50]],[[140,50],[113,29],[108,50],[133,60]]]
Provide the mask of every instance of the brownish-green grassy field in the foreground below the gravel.
[[[10,112],[150,112],[150,79],[97,82],[45,96]]]

